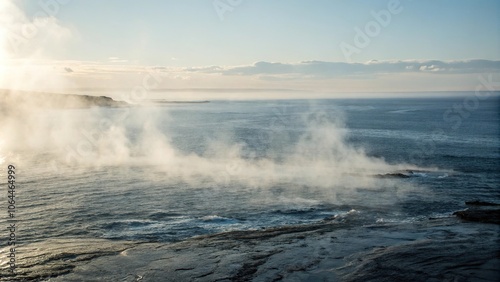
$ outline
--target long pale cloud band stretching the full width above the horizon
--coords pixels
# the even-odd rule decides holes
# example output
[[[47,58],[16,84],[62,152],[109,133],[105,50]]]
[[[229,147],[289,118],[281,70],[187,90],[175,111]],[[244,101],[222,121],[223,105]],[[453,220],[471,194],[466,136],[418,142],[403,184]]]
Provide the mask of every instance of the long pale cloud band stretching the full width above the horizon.
[[[286,88],[321,93],[470,91],[478,85],[479,76],[492,74],[498,81],[500,75],[500,61],[490,60],[371,60],[365,63],[260,61],[251,65],[179,67],[145,66],[132,62],[119,64],[111,63],[110,59],[120,60],[118,57],[100,62],[10,60],[0,66],[0,88],[11,88],[12,81],[25,81],[13,79],[21,77],[19,73],[30,80],[43,73],[50,74],[52,80],[63,81],[75,88],[105,87],[129,89],[129,92],[144,85],[145,77],[149,76],[158,79],[154,80],[158,84],[153,83],[155,89],[233,89],[233,92],[243,96],[247,92],[240,89]],[[27,68],[27,65],[30,67]],[[46,80],[45,77],[41,76],[37,81]],[[20,86],[26,90],[26,85],[23,83]],[[40,88],[39,82],[29,85]],[[52,90],[53,87],[46,91]],[[179,93],[185,95],[185,92]],[[210,95],[213,94],[210,92]]]

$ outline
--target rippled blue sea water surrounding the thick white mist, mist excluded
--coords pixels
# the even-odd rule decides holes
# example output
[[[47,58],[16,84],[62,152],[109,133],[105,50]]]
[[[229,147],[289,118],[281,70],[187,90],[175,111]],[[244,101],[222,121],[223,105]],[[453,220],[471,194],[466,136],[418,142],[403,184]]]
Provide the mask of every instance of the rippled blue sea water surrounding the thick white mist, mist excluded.
[[[232,164],[218,173],[219,178],[229,174],[223,182],[211,181],[211,175],[199,175],[197,181],[175,178],[168,169],[157,169],[161,164],[134,158],[80,165],[65,163],[63,156],[54,170],[59,150],[23,150],[12,152],[16,157],[11,158],[19,168],[17,236],[23,243],[56,237],[171,242],[333,216],[356,216],[361,218],[357,224],[411,222],[450,216],[468,200],[500,202],[500,99],[479,101],[477,109],[466,112],[467,117],[458,113],[444,117],[453,105],[463,102],[464,97],[211,101],[133,107],[127,114],[124,109],[53,110],[55,116],[65,111],[93,117],[80,125],[89,130],[97,126],[97,117],[116,120],[121,115],[115,126],[124,129],[126,144],[138,142],[147,127],[143,121],[153,119],[156,134],[176,154],[210,159],[214,152],[228,148],[212,147],[212,141],[223,139],[223,144],[239,144],[241,160],[275,164],[286,161],[311,121],[335,124],[346,134],[347,146],[388,165],[411,167],[411,172],[405,171],[411,177],[390,182],[375,179],[376,187],[334,185],[330,191],[294,177],[260,185],[255,174],[252,184],[245,185],[232,178],[231,169],[238,169]],[[460,117],[459,126],[452,117]],[[160,163],[168,161],[164,153],[156,154]],[[189,171],[189,165],[183,169]],[[355,181],[358,173],[352,171],[346,177]],[[321,177],[333,181],[323,174],[318,177],[318,182]]]

